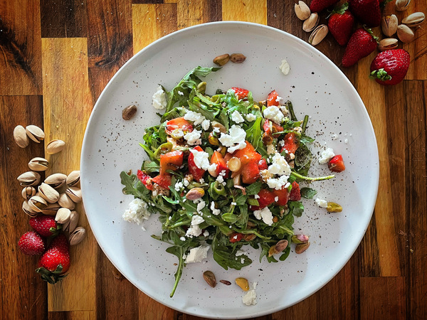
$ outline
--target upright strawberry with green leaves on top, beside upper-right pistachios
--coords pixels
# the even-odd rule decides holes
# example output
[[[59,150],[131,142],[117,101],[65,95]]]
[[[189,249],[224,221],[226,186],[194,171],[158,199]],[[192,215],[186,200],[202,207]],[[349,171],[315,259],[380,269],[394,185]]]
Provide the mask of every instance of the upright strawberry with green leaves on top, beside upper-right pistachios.
[[[352,35],[354,16],[348,9],[349,4],[347,2],[335,8],[329,21],[327,21],[327,27],[339,46],[345,46]]]

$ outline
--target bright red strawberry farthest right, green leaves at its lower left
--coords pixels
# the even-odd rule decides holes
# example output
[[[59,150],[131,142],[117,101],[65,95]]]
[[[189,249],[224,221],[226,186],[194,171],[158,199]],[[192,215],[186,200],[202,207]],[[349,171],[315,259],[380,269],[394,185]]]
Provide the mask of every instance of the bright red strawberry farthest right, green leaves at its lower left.
[[[411,57],[404,49],[385,50],[371,63],[371,78],[380,85],[396,85],[404,80]]]

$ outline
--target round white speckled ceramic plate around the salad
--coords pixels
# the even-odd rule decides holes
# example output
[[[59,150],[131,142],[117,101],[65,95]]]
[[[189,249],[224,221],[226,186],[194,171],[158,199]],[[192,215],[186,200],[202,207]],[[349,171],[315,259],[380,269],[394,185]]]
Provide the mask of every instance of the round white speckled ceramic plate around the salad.
[[[212,66],[223,53],[243,53],[246,61],[228,63],[209,75],[208,93],[217,88],[244,87],[255,100],[275,89],[292,101],[297,117],[310,114],[307,134],[316,138],[312,151],[326,147],[342,154],[347,169],[334,180],[312,183],[317,196],[342,205],[342,213],[327,213],[315,201],[303,199],[305,213],[295,219],[297,233],[310,235],[309,250],[292,250],[284,262],[253,263],[241,271],[223,270],[209,252],[206,261],[186,265],[173,298],[177,258],[167,244],[150,237],[161,232],[156,215],[141,226],[122,220],[132,196],[122,193],[120,171],[140,168],[145,154],[138,145],[144,128],[159,123],[152,107],[158,84],[172,89],[197,65]],[[290,73],[278,68],[288,60]],[[130,120],[122,109],[137,105]],[[330,174],[313,161],[310,175]],[[95,238],[107,257],[136,287],[158,302],[187,314],[210,318],[248,318],[284,309],[316,292],[352,256],[367,229],[379,181],[379,160],[371,122],[352,84],[325,55],[295,36],[268,26],[243,22],[206,23],[159,39],[130,59],[105,87],[85,132],[81,157],[85,210]],[[209,287],[202,272],[234,282],[245,277],[258,282],[257,304],[242,303],[235,284]],[[344,290],[344,288],[342,288]]]

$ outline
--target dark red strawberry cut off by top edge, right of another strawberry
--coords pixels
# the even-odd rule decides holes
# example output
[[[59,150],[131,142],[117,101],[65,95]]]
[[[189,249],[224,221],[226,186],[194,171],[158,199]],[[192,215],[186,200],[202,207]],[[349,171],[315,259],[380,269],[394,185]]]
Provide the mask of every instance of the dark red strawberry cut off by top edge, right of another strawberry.
[[[376,27],[381,23],[379,0],[349,0],[349,9],[362,24]]]

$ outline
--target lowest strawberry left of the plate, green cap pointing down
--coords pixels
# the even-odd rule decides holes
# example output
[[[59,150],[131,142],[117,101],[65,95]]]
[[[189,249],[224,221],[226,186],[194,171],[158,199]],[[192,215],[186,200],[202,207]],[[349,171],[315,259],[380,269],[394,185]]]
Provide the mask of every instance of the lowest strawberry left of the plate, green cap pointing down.
[[[41,278],[50,284],[55,284],[65,277],[65,272],[70,268],[69,244],[65,235],[61,233],[53,239],[48,250],[38,261],[36,272],[41,274]]]

